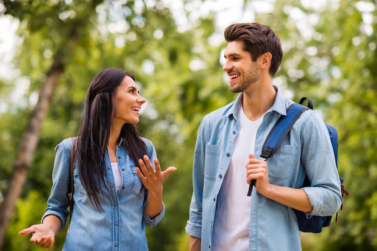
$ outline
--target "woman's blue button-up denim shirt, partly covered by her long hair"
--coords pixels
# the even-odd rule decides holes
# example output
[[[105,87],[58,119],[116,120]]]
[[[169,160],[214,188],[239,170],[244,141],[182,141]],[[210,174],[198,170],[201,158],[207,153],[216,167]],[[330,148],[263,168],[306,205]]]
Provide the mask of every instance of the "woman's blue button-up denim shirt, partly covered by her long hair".
[[[153,144],[143,138],[147,148],[147,155],[152,160],[156,157]],[[51,195],[47,201],[48,207],[42,217],[53,214],[58,216],[63,223],[63,230],[69,211],[69,201],[66,197],[69,181],[69,163],[72,138],[63,140],[56,148],[54,171],[52,174],[53,186]],[[119,193],[110,164],[107,151],[106,166],[107,177],[105,187],[98,185],[100,201],[103,211],[93,206],[84,190],[77,171],[77,163],[74,167],[74,193],[72,219],[69,232],[64,242],[63,250],[101,250],[101,251],[146,251],[148,250],[145,226],[156,226],[165,214],[165,205],[155,218],[150,219],[144,212],[148,191],[142,186],[137,176],[135,164],[129,158],[126,149],[121,143],[117,147],[117,161],[122,173],[123,185]],[[154,162],[151,161],[154,165]],[[154,166],[153,166],[154,168]]]

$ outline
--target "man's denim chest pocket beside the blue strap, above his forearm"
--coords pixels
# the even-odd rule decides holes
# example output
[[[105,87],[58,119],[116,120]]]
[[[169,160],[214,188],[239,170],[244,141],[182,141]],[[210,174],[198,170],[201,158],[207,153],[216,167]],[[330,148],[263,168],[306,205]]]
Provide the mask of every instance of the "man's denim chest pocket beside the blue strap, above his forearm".
[[[267,159],[268,176],[275,181],[284,181],[292,176],[298,147],[280,145],[276,153]],[[276,184],[276,183],[274,183]]]

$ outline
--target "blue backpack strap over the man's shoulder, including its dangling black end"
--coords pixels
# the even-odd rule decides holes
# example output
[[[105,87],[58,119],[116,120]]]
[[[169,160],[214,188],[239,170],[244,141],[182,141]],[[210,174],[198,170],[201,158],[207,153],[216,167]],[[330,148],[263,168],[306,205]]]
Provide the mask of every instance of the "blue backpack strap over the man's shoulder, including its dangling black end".
[[[262,154],[260,154],[261,160],[266,160],[275,154],[297,119],[307,109],[309,108],[297,103],[293,103],[287,108],[287,115],[279,117],[264,141]],[[252,186],[255,186],[255,180],[251,180],[248,196],[251,196]]]

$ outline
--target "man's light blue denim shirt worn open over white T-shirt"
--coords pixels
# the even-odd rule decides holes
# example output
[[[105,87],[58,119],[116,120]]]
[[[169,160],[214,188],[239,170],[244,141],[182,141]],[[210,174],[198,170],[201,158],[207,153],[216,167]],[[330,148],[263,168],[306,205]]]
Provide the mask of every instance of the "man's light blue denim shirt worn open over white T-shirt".
[[[280,117],[293,103],[280,90],[259,127],[256,158],[264,140]],[[217,196],[233,153],[234,139],[240,132],[238,109],[243,94],[230,104],[207,114],[199,127],[193,161],[193,193],[186,232],[201,239],[201,250],[211,250]],[[278,186],[301,188],[308,175],[312,186],[303,188],[313,206],[313,215],[333,215],[342,202],[334,152],[323,120],[306,110],[296,121],[278,151],[267,159],[269,182]],[[245,167],[246,168],[246,167]],[[246,177],[245,177],[246,182]],[[232,196],[232,195],[229,195]],[[245,198],[246,198],[245,194]],[[249,251],[301,250],[300,233],[292,208],[251,194]]]

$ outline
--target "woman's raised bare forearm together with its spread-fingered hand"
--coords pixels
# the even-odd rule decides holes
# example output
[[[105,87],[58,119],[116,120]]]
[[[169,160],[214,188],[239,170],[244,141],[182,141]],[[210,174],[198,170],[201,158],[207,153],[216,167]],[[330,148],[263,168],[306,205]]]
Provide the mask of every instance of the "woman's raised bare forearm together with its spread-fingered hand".
[[[169,176],[172,171],[175,171],[177,168],[174,166],[168,167],[165,171],[161,172],[160,163],[158,159],[154,159],[154,164],[156,170],[153,170],[152,163],[147,155],[144,155],[144,162],[142,159],[139,159],[139,165],[143,173],[137,167],[136,172],[139,176],[144,187],[148,189],[148,197],[145,203],[144,212],[148,215],[149,218],[153,219],[156,217],[162,210],[162,191],[165,179]]]

